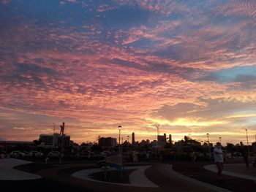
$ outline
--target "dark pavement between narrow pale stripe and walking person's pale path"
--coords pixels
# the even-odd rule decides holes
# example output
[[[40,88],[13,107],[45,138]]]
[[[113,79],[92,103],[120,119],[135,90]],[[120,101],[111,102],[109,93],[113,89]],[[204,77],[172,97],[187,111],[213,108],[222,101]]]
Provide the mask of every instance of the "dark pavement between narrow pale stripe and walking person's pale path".
[[[223,180],[217,180],[217,174],[209,172],[203,169],[203,166],[209,164],[201,162],[176,162],[173,164],[173,169],[176,172],[184,174],[188,177],[192,177],[196,180],[203,181],[205,183],[210,183],[212,185],[217,185],[221,188],[226,188],[230,191],[242,191],[250,192],[256,191],[256,183],[252,180],[245,180],[237,177],[231,177],[223,175]],[[224,166],[225,169],[225,166]]]

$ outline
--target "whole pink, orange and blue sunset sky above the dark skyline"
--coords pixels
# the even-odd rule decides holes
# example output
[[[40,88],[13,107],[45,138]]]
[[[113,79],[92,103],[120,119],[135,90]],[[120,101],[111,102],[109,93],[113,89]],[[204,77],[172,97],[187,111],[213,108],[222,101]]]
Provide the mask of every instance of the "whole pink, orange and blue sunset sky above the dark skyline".
[[[0,140],[256,135],[255,0],[0,0]]]

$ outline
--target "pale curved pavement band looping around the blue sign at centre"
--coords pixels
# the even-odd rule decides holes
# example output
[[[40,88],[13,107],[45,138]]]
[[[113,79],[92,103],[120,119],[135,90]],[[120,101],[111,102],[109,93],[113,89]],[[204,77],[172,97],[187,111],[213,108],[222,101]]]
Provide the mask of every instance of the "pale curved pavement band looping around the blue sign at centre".
[[[127,167],[124,167],[125,170],[137,169],[134,172],[132,172],[132,174],[129,175],[130,184],[105,182],[105,181],[100,181],[100,180],[94,180],[91,177],[89,177],[89,175],[92,173],[102,172],[99,169],[83,169],[81,171],[73,173],[72,177],[76,177],[81,180],[89,180],[89,181],[105,183],[105,184],[144,187],[144,188],[157,188],[159,186],[155,185],[150,180],[148,180],[148,178],[144,174],[146,169],[148,169],[149,167],[150,166],[127,166]],[[116,169],[115,168],[108,169],[108,171],[110,171],[110,170],[116,170]]]

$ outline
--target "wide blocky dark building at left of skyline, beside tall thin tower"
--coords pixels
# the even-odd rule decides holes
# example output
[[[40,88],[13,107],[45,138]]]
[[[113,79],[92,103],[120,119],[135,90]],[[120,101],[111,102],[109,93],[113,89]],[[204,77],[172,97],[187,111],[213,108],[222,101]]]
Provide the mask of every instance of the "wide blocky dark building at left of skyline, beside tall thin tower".
[[[62,136],[59,134],[40,134],[39,140],[41,141],[41,145],[45,146],[61,146],[62,145]],[[70,136],[64,135],[63,136],[63,145],[64,147],[69,146],[70,143]]]

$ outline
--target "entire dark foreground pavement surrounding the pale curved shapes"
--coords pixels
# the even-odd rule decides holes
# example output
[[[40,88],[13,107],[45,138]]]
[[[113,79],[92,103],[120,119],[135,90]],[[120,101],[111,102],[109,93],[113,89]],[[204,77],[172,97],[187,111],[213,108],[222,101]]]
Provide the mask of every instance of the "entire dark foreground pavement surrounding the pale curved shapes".
[[[230,191],[255,191],[256,183],[252,180],[245,180],[237,177],[223,175],[223,180],[217,180],[217,175],[203,169],[203,166],[209,162],[172,162],[173,169],[200,180],[204,183],[216,185]],[[146,164],[128,164],[127,166],[141,166]],[[0,181],[1,191],[122,191],[122,192],[158,192],[158,191],[213,191],[210,188],[183,180],[170,173],[170,164],[150,164],[146,169],[145,175],[148,180],[158,185],[158,188],[132,187],[124,185],[115,185],[114,183],[129,183],[129,174],[132,171],[124,172],[124,180],[119,179],[118,172],[108,172],[108,183],[96,183],[89,180],[80,180],[72,177],[71,174],[83,169],[98,168],[95,164],[25,164],[16,166],[15,169],[38,174],[42,176],[39,180],[25,181]],[[91,175],[94,179],[102,180],[102,174]]]

